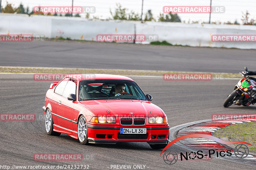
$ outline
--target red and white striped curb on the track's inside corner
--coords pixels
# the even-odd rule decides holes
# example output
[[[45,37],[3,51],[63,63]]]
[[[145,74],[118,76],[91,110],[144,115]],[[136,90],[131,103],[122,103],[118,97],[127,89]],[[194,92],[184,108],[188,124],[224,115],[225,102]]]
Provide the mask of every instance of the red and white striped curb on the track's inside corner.
[[[221,121],[210,121],[210,122],[202,122],[197,123],[189,127],[185,127],[180,129],[177,133],[177,137],[181,137],[188,134],[199,133],[199,134],[206,134],[212,135],[216,130],[225,128],[227,126],[237,124],[237,123],[244,123],[244,122],[251,122],[251,121],[229,121],[229,120],[221,120]],[[204,138],[186,138],[180,140],[180,142],[187,147],[191,148],[192,150],[202,150],[208,151],[209,149],[218,149],[218,151],[226,151],[231,150],[232,155],[229,158],[234,159],[235,161],[240,161],[243,163],[249,163],[252,165],[256,165],[256,156],[249,154],[244,159],[239,159],[234,154],[234,148],[229,147],[225,144],[220,144],[218,142],[212,141],[210,139]]]

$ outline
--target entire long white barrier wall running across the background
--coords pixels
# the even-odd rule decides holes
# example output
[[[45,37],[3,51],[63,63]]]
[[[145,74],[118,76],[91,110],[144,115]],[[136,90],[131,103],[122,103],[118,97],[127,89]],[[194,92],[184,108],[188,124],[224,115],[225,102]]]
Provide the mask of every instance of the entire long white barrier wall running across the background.
[[[172,22],[101,21],[75,17],[0,14],[0,34],[39,34],[48,38],[96,41],[97,34],[155,34],[158,41],[193,47],[256,49],[255,42],[212,42],[212,34],[256,34],[256,26]],[[136,42],[149,44],[150,41]]]

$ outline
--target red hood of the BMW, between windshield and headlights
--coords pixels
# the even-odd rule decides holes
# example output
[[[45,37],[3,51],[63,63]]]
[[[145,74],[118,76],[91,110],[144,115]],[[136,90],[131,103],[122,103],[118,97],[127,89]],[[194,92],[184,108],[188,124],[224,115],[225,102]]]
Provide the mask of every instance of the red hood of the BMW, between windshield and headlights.
[[[97,116],[164,116],[160,107],[148,101],[114,99],[86,100],[80,103],[89,107]]]

